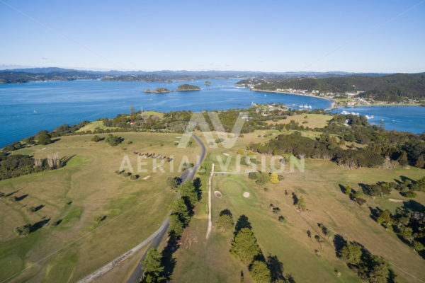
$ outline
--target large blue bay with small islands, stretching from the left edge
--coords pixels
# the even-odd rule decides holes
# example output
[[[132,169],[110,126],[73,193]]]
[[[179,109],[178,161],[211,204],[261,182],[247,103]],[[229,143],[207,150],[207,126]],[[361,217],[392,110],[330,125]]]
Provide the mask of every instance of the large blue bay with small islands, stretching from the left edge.
[[[237,88],[232,80],[188,81],[202,91],[166,94],[144,93],[146,88],[175,89],[186,83],[142,83],[121,81],[49,81],[0,84],[0,147],[31,136],[42,129],[52,130],[67,123],[115,117],[136,110],[220,110],[246,108],[251,102],[280,102],[329,108],[328,100],[282,93],[258,93]],[[295,107],[297,106],[288,106]],[[36,112],[36,113],[35,113]]]

